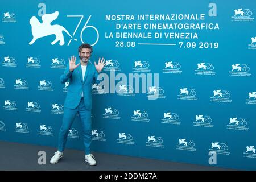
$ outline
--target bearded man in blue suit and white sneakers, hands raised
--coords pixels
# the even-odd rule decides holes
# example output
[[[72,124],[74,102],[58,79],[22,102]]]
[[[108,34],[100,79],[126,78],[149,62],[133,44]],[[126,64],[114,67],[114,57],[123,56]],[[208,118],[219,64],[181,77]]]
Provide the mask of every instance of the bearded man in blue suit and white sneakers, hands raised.
[[[98,64],[89,63],[90,56],[93,52],[92,46],[82,44],[79,47],[79,58],[71,56],[69,64],[64,74],[60,76],[60,82],[65,83],[69,80],[68,93],[64,102],[63,123],[59,133],[58,150],[51,158],[50,163],[56,164],[63,157],[63,151],[67,142],[68,132],[71,125],[79,114],[82,122],[82,138],[85,147],[85,161],[89,165],[96,165],[96,160],[90,154],[90,144],[92,142],[92,84],[97,81],[98,73],[102,71],[106,65],[105,60],[99,58]]]

